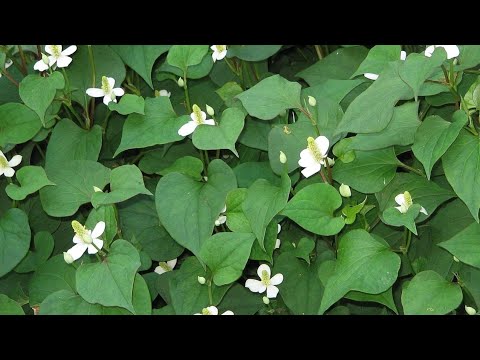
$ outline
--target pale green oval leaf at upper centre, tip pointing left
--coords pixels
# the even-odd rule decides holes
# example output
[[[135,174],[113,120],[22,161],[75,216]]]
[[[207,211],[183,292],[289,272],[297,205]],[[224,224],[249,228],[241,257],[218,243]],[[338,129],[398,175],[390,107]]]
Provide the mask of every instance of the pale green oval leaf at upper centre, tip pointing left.
[[[270,120],[287,109],[301,107],[300,90],[299,83],[274,75],[237,95],[237,98],[250,115]]]

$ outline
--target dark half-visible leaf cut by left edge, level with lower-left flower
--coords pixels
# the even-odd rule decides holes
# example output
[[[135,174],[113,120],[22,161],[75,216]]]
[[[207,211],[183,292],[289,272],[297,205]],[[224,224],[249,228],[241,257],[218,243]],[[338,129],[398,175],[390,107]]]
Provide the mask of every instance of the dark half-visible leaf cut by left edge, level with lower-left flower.
[[[0,218],[0,277],[12,270],[30,247],[30,226],[20,209],[10,209]]]

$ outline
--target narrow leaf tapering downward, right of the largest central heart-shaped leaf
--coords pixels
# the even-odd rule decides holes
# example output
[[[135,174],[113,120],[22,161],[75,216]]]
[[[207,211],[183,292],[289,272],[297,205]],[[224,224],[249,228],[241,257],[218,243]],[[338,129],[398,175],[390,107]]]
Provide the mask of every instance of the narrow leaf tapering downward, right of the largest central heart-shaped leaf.
[[[272,185],[265,179],[258,179],[247,190],[242,205],[243,212],[263,250],[267,226],[287,204],[290,187],[290,178],[283,174],[280,187]]]

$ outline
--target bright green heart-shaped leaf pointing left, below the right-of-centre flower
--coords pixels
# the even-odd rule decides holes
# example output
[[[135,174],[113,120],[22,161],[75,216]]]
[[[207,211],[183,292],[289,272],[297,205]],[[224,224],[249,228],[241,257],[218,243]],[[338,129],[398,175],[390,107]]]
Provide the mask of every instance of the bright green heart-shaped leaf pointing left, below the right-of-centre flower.
[[[334,212],[342,206],[342,197],[328,184],[312,184],[300,190],[282,211],[304,229],[319,235],[335,235],[345,226]]]

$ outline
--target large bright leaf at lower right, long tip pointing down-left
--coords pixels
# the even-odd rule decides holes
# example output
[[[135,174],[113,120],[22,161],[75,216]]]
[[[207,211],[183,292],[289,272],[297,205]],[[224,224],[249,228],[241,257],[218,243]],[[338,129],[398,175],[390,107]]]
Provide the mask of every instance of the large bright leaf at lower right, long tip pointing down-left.
[[[323,314],[351,290],[379,294],[397,279],[400,257],[384,241],[365,230],[352,230],[341,239],[335,272],[325,286],[319,310]]]

